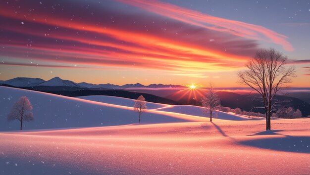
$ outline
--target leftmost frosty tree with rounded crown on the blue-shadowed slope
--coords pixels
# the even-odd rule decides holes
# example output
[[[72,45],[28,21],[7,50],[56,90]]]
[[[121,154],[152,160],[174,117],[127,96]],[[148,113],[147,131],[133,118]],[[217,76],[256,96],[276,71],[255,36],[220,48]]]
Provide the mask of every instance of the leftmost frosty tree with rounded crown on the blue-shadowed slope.
[[[7,116],[7,120],[19,120],[20,130],[22,130],[24,121],[33,120],[33,114],[31,110],[32,105],[30,104],[28,97],[22,96],[13,104],[13,107]]]

